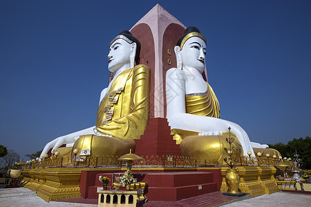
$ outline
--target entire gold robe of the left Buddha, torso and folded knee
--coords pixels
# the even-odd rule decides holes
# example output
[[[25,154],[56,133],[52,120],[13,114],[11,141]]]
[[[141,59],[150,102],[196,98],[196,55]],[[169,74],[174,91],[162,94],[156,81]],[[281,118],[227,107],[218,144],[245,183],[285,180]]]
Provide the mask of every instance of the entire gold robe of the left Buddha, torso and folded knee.
[[[97,110],[96,129],[103,135],[82,135],[73,149],[79,155],[120,157],[135,149],[149,121],[150,70],[138,65],[118,75]]]

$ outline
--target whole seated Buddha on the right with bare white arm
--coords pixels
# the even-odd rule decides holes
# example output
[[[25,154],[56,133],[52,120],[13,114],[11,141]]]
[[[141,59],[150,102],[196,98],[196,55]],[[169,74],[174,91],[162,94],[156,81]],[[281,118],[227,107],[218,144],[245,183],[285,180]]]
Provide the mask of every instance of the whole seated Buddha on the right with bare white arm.
[[[217,159],[222,164],[227,155],[223,148],[227,146],[225,138],[229,137],[230,127],[231,135],[236,137],[236,156],[247,155],[247,151],[254,156],[245,130],[220,119],[218,99],[202,77],[206,50],[206,39],[195,27],[187,28],[176,43],[177,68],[169,69],[166,75],[167,119],[171,133],[180,144],[182,155],[198,160]]]

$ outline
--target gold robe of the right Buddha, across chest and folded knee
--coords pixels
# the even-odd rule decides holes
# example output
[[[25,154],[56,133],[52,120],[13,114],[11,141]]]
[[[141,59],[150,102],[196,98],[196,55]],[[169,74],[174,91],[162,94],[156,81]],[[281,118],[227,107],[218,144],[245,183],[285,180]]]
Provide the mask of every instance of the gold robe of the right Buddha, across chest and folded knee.
[[[191,115],[220,117],[218,99],[209,83],[207,83],[207,91],[188,94],[185,101],[186,112]],[[174,135],[173,138],[176,139],[176,144],[180,144],[180,151],[183,156],[196,158],[196,163],[199,165],[225,164],[224,158],[227,157],[225,148],[229,148],[226,138],[229,137],[229,133],[198,136],[198,132],[187,130],[173,129],[171,132]],[[232,137],[235,136],[232,135]],[[241,157],[243,148],[240,141],[235,139],[232,146],[236,149],[232,156]]]

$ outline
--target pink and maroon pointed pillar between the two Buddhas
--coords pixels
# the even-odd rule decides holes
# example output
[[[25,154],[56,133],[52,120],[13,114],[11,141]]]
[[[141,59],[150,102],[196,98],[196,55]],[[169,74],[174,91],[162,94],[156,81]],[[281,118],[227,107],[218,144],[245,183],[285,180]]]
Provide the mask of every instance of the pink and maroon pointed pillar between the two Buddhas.
[[[135,140],[138,155],[180,155],[166,119],[165,75],[169,68],[176,68],[173,51],[185,28],[157,4],[130,30],[142,43],[140,63],[151,69],[150,119],[144,135]]]

